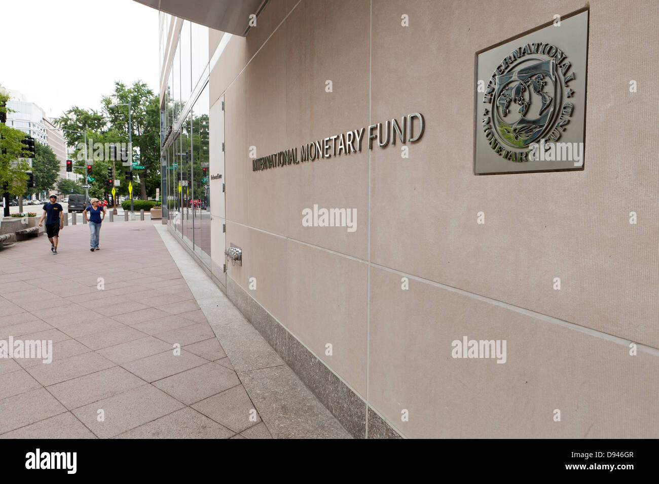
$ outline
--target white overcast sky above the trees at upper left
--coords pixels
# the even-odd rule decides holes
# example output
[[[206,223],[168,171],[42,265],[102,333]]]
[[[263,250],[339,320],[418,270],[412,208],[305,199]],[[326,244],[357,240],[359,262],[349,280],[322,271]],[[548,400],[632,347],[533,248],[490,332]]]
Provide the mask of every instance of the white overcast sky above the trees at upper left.
[[[133,0],[0,0],[0,84],[47,117],[100,109],[115,80],[158,92],[158,11]]]

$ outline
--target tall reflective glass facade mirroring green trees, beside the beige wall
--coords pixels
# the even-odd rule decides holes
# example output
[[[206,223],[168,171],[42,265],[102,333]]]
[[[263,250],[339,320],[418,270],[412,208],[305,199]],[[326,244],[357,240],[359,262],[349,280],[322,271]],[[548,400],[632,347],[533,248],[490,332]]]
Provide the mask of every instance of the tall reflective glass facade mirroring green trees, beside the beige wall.
[[[167,36],[166,26],[176,19],[161,15],[167,16],[161,35]],[[161,49],[166,47],[161,38]],[[167,222],[210,267],[208,28],[184,21],[171,49],[175,54],[161,99]],[[162,68],[168,68],[164,61]]]

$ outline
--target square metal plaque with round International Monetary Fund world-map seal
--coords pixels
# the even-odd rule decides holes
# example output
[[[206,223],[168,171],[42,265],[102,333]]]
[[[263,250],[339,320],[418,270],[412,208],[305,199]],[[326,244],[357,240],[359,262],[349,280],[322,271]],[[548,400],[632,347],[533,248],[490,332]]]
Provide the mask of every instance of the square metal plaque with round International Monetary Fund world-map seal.
[[[474,173],[583,170],[588,11],[476,55]]]

